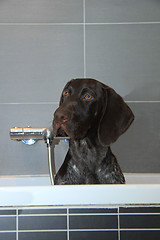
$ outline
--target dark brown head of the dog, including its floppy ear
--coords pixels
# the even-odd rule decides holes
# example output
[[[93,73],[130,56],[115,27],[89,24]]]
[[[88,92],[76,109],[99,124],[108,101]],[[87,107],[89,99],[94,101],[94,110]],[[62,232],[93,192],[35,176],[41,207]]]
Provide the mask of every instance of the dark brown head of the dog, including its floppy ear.
[[[55,135],[73,139],[95,133],[102,145],[109,146],[133,119],[131,109],[112,88],[94,79],[73,79],[63,89],[53,129]]]

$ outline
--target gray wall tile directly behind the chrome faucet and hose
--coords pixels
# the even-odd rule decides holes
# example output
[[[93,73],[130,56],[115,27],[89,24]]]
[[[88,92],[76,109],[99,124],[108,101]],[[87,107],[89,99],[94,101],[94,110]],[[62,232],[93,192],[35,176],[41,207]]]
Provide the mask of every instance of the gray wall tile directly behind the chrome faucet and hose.
[[[27,146],[10,140],[9,130],[14,126],[50,127],[56,107],[57,105],[52,104],[0,105],[0,175],[48,174],[47,147],[44,141]],[[56,155],[57,162],[63,161],[62,152],[63,147],[60,150],[61,158]]]

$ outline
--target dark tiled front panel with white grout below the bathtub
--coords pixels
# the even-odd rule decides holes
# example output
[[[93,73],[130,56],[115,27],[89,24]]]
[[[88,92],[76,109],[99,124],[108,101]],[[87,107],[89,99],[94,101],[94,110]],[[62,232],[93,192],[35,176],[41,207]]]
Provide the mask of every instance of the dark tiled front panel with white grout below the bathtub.
[[[0,240],[159,238],[159,206],[0,209]]]

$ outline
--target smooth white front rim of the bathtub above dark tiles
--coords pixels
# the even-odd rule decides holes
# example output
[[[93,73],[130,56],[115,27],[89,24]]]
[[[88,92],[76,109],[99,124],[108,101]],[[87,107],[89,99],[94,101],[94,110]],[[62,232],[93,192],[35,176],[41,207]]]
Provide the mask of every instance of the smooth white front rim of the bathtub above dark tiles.
[[[0,187],[0,196],[1,207],[154,205],[160,204],[160,184]]]

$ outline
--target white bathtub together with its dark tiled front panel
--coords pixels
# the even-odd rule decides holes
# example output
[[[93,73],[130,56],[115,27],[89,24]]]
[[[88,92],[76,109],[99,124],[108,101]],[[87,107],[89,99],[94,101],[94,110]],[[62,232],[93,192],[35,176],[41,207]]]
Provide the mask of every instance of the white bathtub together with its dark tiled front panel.
[[[160,174],[125,185],[51,186],[49,176],[0,178],[0,240],[160,239]]]

